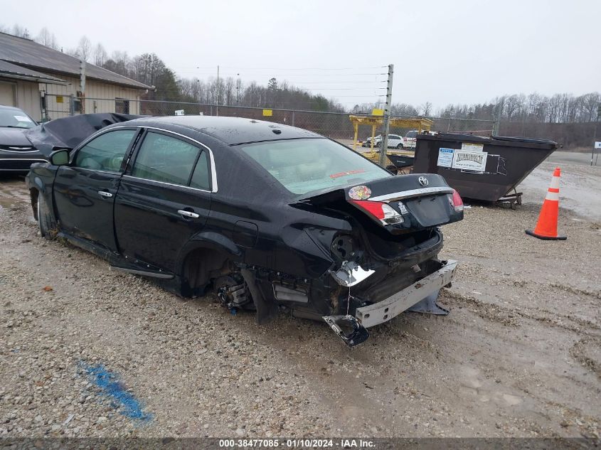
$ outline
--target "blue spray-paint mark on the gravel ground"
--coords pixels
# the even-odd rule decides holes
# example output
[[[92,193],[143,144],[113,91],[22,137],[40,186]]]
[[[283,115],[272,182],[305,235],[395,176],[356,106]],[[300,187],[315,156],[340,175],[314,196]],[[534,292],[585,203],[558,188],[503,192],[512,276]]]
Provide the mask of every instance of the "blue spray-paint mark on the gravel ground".
[[[90,380],[100,388],[102,395],[109,397],[119,412],[129,419],[139,419],[148,422],[152,414],[142,411],[142,404],[127,389],[115,373],[110,372],[102,364],[90,365],[84,361],[79,363],[80,369]]]

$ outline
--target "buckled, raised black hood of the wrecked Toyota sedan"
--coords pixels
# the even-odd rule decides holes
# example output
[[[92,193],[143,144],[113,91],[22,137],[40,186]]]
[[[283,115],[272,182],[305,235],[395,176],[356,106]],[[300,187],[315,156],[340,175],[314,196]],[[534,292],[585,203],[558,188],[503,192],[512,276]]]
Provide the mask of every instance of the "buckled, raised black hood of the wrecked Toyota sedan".
[[[108,125],[127,122],[140,117],[144,116],[110,112],[78,114],[38,125],[38,127],[28,129],[25,135],[38,151],[41,151],[45,156],[49,156],[55,149],[74,149],[87,136]]]

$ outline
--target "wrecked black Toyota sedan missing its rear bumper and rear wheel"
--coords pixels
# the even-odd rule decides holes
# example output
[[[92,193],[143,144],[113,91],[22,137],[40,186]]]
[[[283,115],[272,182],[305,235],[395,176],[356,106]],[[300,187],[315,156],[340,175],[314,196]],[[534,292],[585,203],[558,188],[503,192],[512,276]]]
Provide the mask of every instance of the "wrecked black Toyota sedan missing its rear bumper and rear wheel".
[[[303,129],[235,117],[105,127],[26,177],[41,235],[181,296],[325,320],[347,344],[450,283],[438,175],[393,176]]]

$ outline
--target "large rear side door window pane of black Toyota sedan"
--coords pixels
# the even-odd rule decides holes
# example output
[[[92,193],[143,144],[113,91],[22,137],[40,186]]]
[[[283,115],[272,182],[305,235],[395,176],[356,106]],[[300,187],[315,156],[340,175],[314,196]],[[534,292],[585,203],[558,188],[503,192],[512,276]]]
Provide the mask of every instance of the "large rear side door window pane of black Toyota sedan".
[[[181,139],[149,132],[136,156],[132,176],[188,186],[199,151]]]

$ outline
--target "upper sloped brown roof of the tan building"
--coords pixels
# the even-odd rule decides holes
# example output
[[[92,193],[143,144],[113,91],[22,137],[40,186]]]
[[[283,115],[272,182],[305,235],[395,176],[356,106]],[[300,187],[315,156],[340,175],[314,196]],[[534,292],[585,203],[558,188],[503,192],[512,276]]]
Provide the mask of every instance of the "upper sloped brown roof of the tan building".
[[[19,38],[6,33],[0,33],[0,60],[13,65],[20,65],[23,68],[55,73],[59,76],[79,77],[80,75],[80,60],[78,58],[31,41],[31,39]],[[153,89],[151,86],[144,85],[144,83],[90,63],[85,64],[85,76],[92,80],[100,80],[134,89]]]

